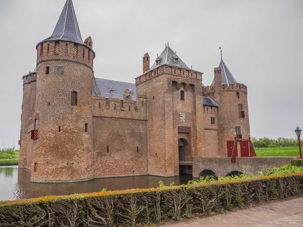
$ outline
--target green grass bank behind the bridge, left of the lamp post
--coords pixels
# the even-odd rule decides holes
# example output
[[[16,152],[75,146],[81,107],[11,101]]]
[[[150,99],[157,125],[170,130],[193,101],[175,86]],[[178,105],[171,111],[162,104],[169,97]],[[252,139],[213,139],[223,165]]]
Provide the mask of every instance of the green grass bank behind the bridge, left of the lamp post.
[[[299,147],[255,148],[257,156],[300,156]]]

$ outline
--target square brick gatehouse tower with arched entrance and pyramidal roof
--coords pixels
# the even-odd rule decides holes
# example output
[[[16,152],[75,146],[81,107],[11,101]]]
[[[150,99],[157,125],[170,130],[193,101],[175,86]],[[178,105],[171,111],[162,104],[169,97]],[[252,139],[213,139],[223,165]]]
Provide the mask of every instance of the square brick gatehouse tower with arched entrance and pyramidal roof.
[[[136,92],[147,97],[149,175],[190,173],[185,163],[205,156],[202,74],[189,69],[169,45],[148,71],[143,62]]]

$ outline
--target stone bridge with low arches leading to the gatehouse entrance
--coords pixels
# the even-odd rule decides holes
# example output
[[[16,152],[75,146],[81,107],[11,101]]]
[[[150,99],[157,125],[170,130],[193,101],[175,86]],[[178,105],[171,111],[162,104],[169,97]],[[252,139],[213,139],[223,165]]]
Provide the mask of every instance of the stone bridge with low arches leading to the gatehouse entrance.
[[[239,173],[257,175],[263,168],[275,168],[289,163],[297,157],[236,157],[232,163],[230,157],[194,157],[192,177],[213,175],[222,178]]]

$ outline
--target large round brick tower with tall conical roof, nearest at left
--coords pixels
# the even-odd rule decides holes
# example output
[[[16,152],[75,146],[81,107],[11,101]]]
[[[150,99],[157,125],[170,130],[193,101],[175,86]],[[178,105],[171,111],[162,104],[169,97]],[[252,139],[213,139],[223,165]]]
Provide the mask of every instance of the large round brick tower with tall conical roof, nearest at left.
[[[39,42],[35,116],[30,163],[33,182],[93,178],[92,40],[82,41],[72,0],[52,36]]]

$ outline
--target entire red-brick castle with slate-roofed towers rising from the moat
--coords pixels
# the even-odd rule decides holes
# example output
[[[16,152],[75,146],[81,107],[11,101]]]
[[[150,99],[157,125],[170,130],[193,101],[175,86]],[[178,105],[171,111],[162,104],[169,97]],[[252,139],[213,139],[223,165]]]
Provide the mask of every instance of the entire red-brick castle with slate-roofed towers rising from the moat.
[[[36,49],[36,69],[22,77],[19,141],[32,182],[178,176],[195,157],[227,157],[235,134],[249,136],[247,87],[222,55],[210,86],[168,43],[155,61],[144,54],[135,84],[97,78],[72,0]]]

